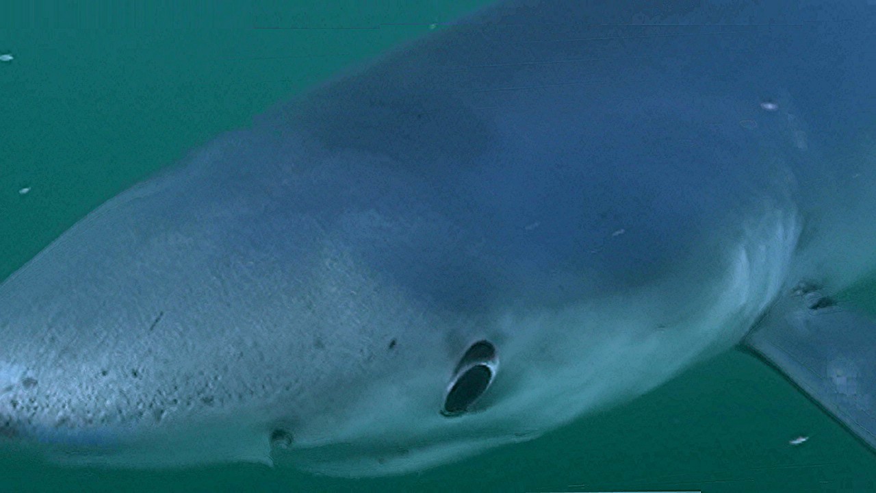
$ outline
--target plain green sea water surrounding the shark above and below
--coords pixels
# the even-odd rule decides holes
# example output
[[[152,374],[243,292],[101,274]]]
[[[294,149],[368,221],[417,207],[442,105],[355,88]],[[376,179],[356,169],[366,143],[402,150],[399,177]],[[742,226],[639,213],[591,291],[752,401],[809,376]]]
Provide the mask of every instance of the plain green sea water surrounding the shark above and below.
[[[14,56],[0,62],[0,278],[187,149],[484,3],[0,4],[0,54]],[[846,296],[874,293],[876,284]],[[788,444],[801,435],[809,441]],[[0,455],[0,492],[639,489],[876,491],[876,456],[741,353],[543,438],[417,475],[107,471]]]

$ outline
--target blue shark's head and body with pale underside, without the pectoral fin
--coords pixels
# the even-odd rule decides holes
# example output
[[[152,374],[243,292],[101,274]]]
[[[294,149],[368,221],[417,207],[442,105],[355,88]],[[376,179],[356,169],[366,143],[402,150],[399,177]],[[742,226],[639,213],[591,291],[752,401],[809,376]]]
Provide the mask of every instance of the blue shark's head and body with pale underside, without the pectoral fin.
[[[876,6],[499,2],[217,137],[0,285],[0,453],[393,475],[876,269]]]

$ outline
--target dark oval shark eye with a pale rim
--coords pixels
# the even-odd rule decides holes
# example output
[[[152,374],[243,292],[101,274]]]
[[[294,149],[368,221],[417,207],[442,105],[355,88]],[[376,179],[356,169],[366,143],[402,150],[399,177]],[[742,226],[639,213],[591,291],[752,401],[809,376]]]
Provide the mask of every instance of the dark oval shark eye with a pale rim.
[[[456,365],[453,378],[444,397],[442,414],[457,416],[469,411],[496,376],[496,348],[485,340],[472,344]]]

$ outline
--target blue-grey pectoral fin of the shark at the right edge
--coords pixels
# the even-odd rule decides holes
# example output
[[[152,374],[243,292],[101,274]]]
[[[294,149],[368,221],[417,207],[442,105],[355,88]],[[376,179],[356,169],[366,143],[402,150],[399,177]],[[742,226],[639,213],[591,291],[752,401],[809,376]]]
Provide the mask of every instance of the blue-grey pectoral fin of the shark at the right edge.
[[[876,322],[802,286],[743,345],[876,448]]]

